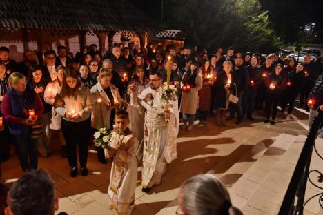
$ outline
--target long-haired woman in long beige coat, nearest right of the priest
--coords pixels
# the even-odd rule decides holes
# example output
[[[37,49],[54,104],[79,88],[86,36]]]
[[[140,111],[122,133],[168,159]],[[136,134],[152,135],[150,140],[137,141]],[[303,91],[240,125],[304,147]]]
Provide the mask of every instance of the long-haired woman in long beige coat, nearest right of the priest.
[[[190,132],[193,130],[194,117],[197,109],[198,92],[202,88],[202,76],[199,74],[197,61],[190,65],[182,79],[182,101],[179,112],[183,114],[184,125],[182,129]],[[188,122],[188,125],[187,125]]]

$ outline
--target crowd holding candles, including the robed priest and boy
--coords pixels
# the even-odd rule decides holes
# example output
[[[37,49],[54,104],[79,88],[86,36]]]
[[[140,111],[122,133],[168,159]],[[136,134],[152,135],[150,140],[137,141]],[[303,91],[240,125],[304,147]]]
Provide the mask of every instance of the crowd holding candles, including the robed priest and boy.
[[[237,114],[239,125],[245,116],[253,121],[254,110],[264,109],[264,123],[274,125],[278,106],[290,118],[297,96],[305,110],[323,109],[322,81],[315,85],[322,65],[310,54],[297,63],[278,54],[243,55],[233,48],[210,54],[188,47],[177,52],[173,45],[164,50],[148,44],[138,50],[134,43],[126,48],[114,44],[103,57],[96,45],[75,57],[67,53],[63,45],[57,54],[27,50],[18,64],[10,59],[8,48],[0,47],[0,160],[8,160],[13,143],[23,172],[33,172],[39,156],[52,155],[56,135],[70,176],[76,177],[79,170],[87,176],[93,134],[102,126],[113,130],[110,148],[97,146],[97,158],[101,163],[113,158],[108,196],[110,208],[120,214],[130,214],[135,206],[138,161],[142,159],[143,192],[149,192],[161,183],[166,163],[177,158],[179,121],[180,128],[190,132],[196,120],[204,125],[209,114],[219,126]],[[169,108],[161,99],[165,81],[177,89]],[[199,192],[190,187],[183,187],[182,195]],[[182,211],[193,214],[192,200],[183,199]],[[223,204],[229,198],[225,200]]]

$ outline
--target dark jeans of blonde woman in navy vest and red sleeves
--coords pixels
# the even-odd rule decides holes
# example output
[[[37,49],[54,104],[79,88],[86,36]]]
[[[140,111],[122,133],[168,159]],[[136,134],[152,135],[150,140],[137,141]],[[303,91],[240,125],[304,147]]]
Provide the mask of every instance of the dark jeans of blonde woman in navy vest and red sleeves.
[[[37,140],[31,139],[30,132],[24,132],[19,136],[12,136],[12,139],[14,147],[16,147],[21,169],[24,172],[36,170],[38,165]]]

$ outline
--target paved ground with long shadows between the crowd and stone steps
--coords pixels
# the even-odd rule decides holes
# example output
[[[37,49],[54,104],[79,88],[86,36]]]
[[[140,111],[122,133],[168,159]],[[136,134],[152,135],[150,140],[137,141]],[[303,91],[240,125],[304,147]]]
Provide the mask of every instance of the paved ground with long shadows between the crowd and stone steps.
[[[138,172],[133,214],[157,214],[176,198],[179,186],[196,174],[210,172],[221,177],[235,163],[241,164],[238,167],[243,172],[244,168],[256,161],[257,153],[269,147],[279,134],[306,135],[308,116],[297,110],[295,115],[294,119],[289,120],[279,115],[276,125],[264,124],[262,116],[255,116],[255,121],[245,120],[239,126],[229,121],[228,127],[218,127],[214,117],[210,116],[206,125],[195,125],[192,132],[181,130],[177,139],[177,160],[167,165],[161,185],[153,187],[149,194],[144,194],[140,185],[141,172]],[[54,141],[57,143],[56,139]],[[55,180],[59,211],[75,215],[114,214],[106,208],[111,165],[99,163],[91,146],[88,156],[90,174],[71,178],[68,162],[61,158],[59,149],[59,145],[56,145],[52,157],[39,159],[39,167],[48,170]],[[22,175],[14,150],[11,154],[10,160],[1,167],[1,180],[8,185]],[[226,174],[221,179],[231,186],[241,176]]]

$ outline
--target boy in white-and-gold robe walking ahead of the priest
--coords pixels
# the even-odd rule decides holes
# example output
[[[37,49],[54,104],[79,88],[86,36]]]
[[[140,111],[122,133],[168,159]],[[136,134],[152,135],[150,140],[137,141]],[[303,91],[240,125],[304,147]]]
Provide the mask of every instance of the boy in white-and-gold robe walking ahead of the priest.
[[[105,150],[106,158],[114,156],[108,196],[110,209],[117,214],[131,214],[135,207],[137,183],[137,158],[135,153],[139,142],[128,128],[130,123],[126,110],[115,114],[115,130],[112,132],[110,151]]]

